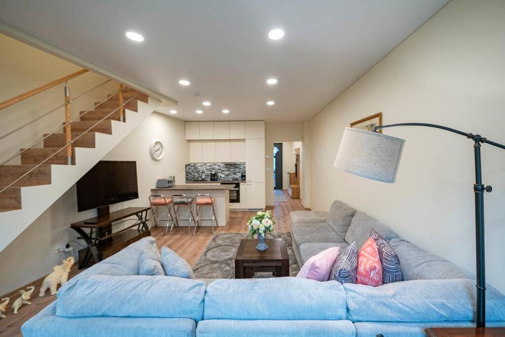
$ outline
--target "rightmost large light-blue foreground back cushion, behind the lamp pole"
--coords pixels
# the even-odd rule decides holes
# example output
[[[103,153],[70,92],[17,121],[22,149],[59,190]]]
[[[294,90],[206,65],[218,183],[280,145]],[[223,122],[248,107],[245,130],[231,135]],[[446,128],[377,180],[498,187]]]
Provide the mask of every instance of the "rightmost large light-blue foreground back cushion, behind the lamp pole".
[[[378,287],[345,283],[347,319],[352,322],[440,322],[475,319],[475,281],[413,280]],[[486,291],[486,319],[502,321],[505,297]]]

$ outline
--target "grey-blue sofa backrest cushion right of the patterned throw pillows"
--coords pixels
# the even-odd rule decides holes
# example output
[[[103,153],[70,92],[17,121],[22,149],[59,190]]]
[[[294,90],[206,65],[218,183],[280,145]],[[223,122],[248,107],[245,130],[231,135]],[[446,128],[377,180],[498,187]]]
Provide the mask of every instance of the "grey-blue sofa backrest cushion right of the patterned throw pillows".
[[[432,253],[423,251],[416,245],[400,238],[394,238],[389,246],[398,256],[403,279],[450,279],[450,278],[475,278],[463,268]]]

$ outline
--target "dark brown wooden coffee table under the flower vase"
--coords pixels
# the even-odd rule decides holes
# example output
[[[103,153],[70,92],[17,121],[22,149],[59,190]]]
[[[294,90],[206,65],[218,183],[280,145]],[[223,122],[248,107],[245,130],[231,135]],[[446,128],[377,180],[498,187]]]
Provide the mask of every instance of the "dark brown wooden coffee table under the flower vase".
[[[283,239],[266,239],[266,251],[256,249],[258,240],[242,239],[235,257],[235,278],[252,278],[255,272],[271,272],[275,277],[289,276],[289,255]]]

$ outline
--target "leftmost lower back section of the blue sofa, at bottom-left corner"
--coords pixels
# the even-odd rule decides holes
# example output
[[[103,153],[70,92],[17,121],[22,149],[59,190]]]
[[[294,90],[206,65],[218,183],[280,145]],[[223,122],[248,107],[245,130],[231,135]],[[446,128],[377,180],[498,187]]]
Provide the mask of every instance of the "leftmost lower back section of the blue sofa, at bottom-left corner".
[[[194,337],[196,323],[188,318],[58,317],[53,302],[21,326],[24,337]]]

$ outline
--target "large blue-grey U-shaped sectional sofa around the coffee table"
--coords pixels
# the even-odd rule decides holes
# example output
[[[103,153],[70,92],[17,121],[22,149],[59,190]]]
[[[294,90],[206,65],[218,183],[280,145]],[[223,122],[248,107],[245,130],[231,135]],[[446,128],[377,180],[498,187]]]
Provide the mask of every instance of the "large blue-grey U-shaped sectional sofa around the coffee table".
[[[336,201],[330,212],[292,212],[300,264],[325,247],[364,242],[370,228],[398,254],[405,281],[370,287],[282,277],[194,280],[140,276],[146,237],[72,278],[58,300],[21,328],[31,336],[425,336],[474,326],[473,275]],[[310,229],[310,230],[309,230]],[[312,237],[312,239],[311,239]],[[311,241],[312,240],[312,241]],[[505,297],[486,293],[488,326],[505,326]]]

